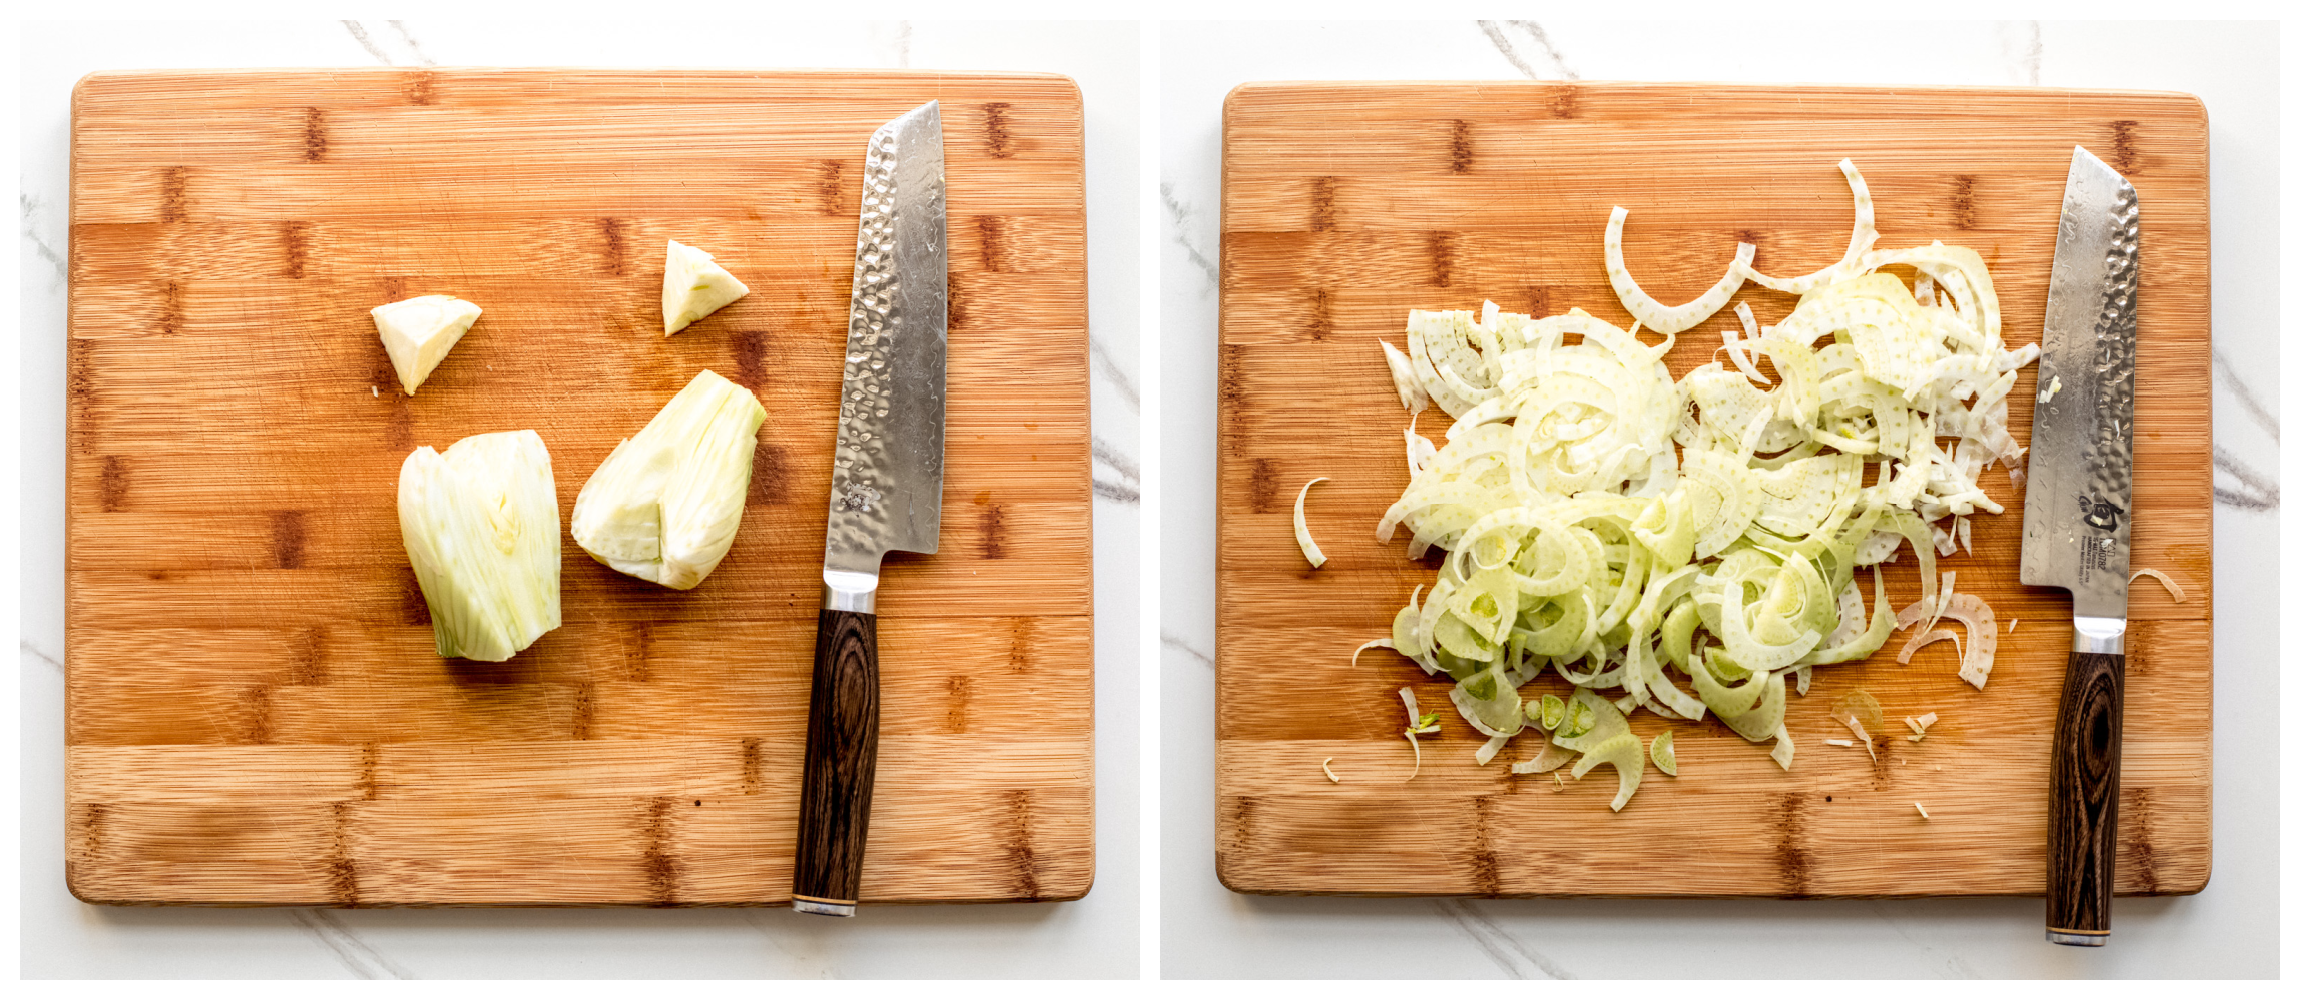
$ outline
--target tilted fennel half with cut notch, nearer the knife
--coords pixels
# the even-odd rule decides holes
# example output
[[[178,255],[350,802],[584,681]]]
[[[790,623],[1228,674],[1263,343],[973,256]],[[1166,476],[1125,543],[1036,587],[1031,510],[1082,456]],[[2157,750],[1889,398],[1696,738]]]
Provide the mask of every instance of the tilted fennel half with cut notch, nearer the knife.
[[[568,533],[591,559],[674,591],[702,584],[743,526],[766,407],[704,370],[582,492]]]

